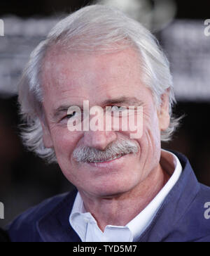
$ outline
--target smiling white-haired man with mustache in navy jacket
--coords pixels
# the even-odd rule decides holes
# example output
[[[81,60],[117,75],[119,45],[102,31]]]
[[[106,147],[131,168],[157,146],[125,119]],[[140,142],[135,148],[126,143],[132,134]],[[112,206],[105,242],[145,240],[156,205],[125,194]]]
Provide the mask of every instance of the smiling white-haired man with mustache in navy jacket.
[[[31,54],[19,98],[25,144],[76,190],[20,215],[12,241],[210,241],[210,189],[185,156],[161,149],[179,123],[172,76],[139,23],[104,6],[69,15]],[[120,124],[107,129],[110,114]]]

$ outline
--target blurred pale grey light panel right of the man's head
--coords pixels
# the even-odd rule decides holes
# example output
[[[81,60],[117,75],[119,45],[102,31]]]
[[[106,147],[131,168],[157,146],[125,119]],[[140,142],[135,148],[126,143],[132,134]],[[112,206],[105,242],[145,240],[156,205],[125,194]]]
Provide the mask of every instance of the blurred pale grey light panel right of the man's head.
[[[210,37],[202,20],[176,20],[160,33],[179,101],[210,100]]]

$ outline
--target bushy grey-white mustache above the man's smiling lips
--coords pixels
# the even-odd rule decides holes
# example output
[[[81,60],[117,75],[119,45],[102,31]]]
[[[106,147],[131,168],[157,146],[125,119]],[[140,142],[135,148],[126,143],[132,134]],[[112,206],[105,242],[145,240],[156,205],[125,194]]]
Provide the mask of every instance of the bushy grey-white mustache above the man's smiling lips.
[[[80,146],[73,151],[73,158],[77,162],[106,162],[115,158],[118,155],[127,155],[130,153],[137,153],[139,147],[136,143],[130,140],[121,139],[114,142],[111,146],[106,148],[105,151],[100,151],[97,148],[91,148],[88,146]]]

